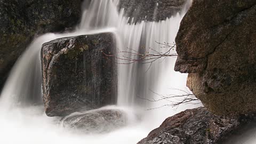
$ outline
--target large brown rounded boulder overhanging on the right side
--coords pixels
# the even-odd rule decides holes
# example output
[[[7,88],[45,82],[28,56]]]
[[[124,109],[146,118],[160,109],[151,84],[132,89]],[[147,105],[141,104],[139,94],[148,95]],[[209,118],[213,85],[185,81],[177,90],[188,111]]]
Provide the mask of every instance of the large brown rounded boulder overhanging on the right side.
[[[181,21],[175,70],[219,115],[256,111],[256,1],[195,0]]]

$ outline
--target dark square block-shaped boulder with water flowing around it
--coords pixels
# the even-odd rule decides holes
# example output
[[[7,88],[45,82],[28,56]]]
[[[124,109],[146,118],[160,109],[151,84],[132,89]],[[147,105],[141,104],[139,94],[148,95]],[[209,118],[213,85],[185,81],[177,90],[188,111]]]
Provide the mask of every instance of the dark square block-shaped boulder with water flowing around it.
[[[112,34],[60,38],[42,47],[43,99],[48,116],[116,103]],[[105,53],[105,54],[103,54]]]

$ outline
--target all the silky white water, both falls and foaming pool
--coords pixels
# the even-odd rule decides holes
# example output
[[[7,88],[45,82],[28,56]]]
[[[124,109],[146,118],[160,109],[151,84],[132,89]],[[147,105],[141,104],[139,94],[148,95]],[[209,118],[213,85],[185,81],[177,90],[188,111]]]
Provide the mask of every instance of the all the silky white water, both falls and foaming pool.
[[[189,1],[190,2],[190,1]],[[133,63],[118,65],[118,104],[130,116],[126,127],[106,134],[86,135],[61,126],[60,119],[47,117],[42,106],[41,62],[42,44],[56,38],[113,33],[117,39],[117,52],[147,51],[159,52],[159,43],[172,43],[179,29],[179,23],[186,10],[160,22],[127,24],[124,11],[118,13],[118,1],[94,0],[83,5],[81,23],[76,30],[66,34],[45,34],[36,38],[13,67],[0,98],[0,143],[137,143],[158,127],[166,117],[195,105],[181,105],[178,108],[163,107],[170,101],[149,102],[141,98],[161,99],[159,94],[183,94],[186,90],[186,74],[175,72],[175,58],[160,59],[148,69],[147,65]],[[130,49],[127,49],[130,48]],[[175,51],[173,51],[175,53]],[[132,57],[121,53],[119,57]],[[119,61],[122,63],[122,61]],[[172,101],[175,101],[173,99]],[[139,120],[135,116],[139,115]]]

